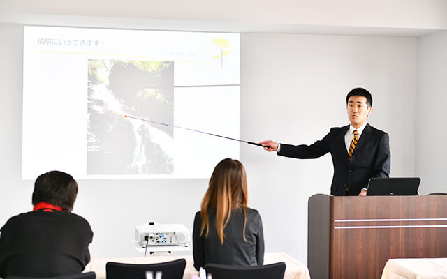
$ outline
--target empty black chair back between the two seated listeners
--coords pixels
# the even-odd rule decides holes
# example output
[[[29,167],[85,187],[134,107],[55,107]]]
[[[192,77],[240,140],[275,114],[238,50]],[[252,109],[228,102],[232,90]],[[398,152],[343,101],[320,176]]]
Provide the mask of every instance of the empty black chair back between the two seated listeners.
[[[121,262],[108,262],[105,264],[107,279],[145,279],[146,271],[161,271],[162,279],[182,279],[186,259],[176,259],[171,262],[156,264],[124,264]]]

